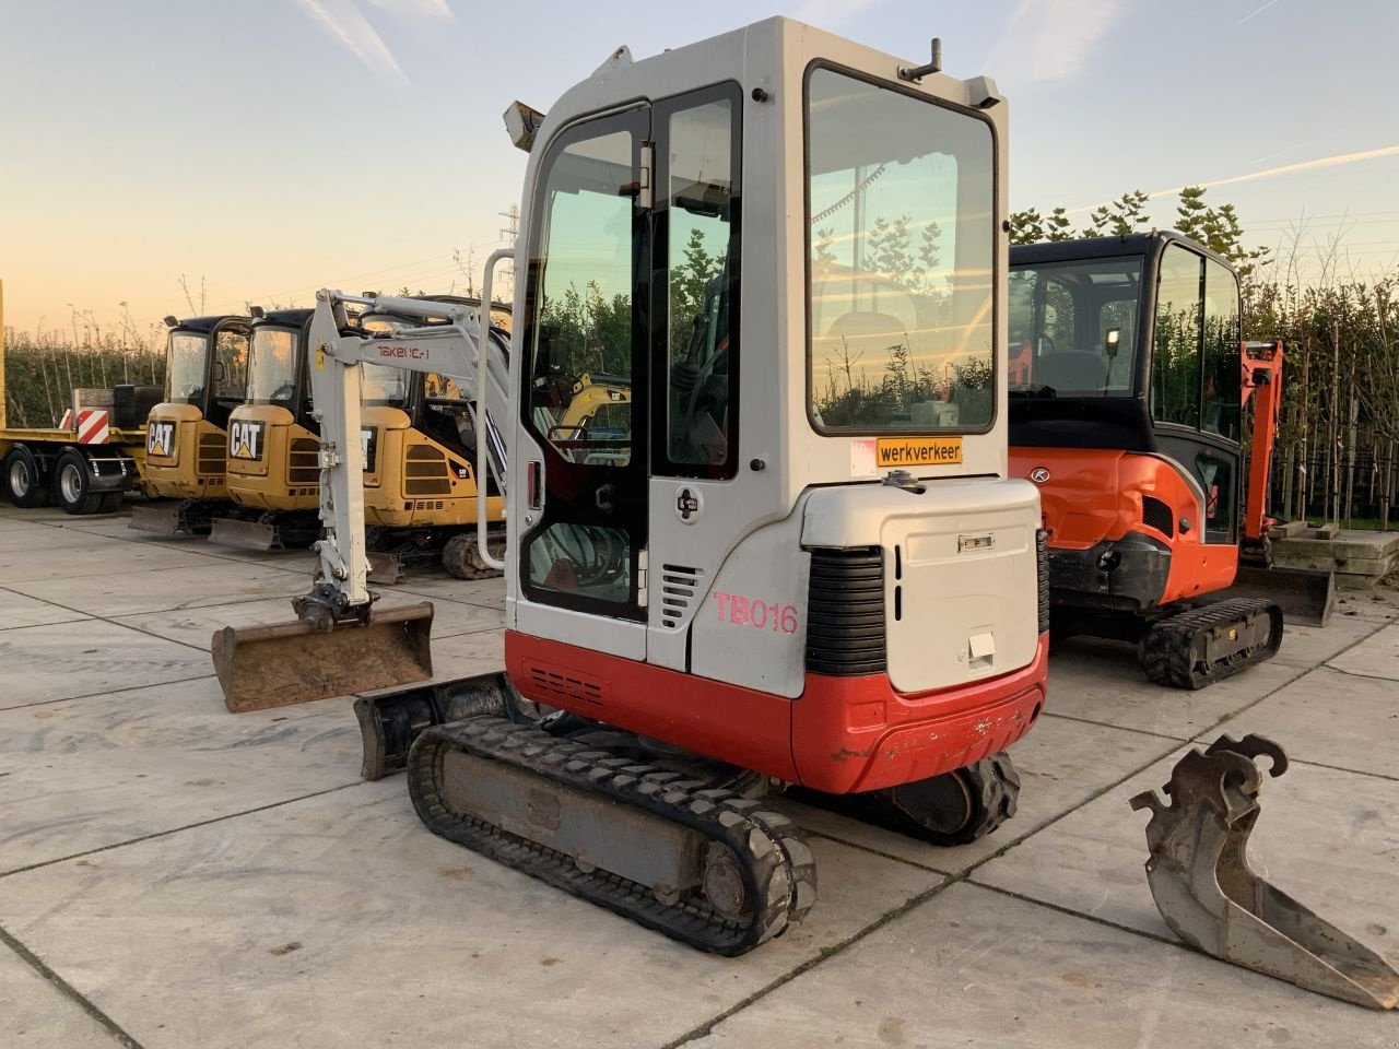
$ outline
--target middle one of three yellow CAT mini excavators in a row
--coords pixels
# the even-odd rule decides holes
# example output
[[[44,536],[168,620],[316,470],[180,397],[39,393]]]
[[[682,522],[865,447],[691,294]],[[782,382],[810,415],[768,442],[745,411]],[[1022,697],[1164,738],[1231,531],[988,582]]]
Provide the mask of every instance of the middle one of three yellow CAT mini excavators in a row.
[[[253,550],[305,547],[320,534],[320,424],[306,330],[315,311],[255,311],[243,403],[228,417],[228,497],[210,540]]]

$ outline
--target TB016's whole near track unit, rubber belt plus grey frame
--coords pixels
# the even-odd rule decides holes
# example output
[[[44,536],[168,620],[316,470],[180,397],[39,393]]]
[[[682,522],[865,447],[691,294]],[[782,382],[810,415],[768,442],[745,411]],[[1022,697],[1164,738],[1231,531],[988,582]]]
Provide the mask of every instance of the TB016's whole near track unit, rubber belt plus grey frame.
[[[537,726],[439,725],[407,772],[434,834],[702,951],[744,954],[816,902],[788,817]]]

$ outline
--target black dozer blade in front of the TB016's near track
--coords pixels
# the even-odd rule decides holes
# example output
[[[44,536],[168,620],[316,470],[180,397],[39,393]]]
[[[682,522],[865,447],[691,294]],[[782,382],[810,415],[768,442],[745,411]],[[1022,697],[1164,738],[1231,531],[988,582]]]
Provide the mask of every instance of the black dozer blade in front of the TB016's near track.
[[[409,764],[409,748],[424,729],[480,715],[508,716],[519,709],[519,704],[504,673],[361,697],[354,701],[364,738],[360,775],[383,779],[403,772]]]

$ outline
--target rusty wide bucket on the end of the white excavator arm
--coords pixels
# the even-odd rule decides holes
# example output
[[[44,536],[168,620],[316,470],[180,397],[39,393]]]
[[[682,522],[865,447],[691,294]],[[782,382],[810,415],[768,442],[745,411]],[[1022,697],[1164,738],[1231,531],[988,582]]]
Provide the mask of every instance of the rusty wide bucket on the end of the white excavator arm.
[[[390,688],[432,677],[432,603],[374,613],[325,632],[295,620],[225,627],[210,649],[234,713]]]

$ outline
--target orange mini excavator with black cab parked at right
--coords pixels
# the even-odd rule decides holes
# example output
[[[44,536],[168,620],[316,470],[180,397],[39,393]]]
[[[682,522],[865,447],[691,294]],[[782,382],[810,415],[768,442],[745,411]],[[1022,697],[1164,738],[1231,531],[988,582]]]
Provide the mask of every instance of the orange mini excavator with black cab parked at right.
[[[1270,566],[1283,354],[1241,341],[1228,263],[1157,232],[1010,263],[1010,474],[1039,487],[1053,632],[1137,642],[1151,681],[1203,688],[1276,653],[1284,608],[1323,622],[1332,573]]]

